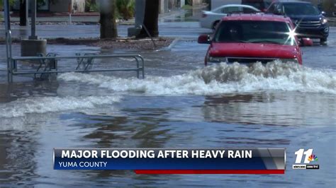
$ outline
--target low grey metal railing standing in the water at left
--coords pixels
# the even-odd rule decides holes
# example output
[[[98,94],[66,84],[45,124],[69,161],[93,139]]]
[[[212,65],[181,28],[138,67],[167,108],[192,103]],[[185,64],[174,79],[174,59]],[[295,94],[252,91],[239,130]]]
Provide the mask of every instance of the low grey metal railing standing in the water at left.
[[[135,59],[136,68],[130,69],[92,69],[94,59],[103,59],[103,58],[129,58]],[[76,59],[77,66],[75,69],[66,69],[60,70],[57,67],[58,61],[62,59]],[[18,61],[38,61],[38,68],[35,71],[19,71],[18,70]],[[136,71],[137,78],[140,78],[140,72],[142,73],[142,78],[145,78],[145,60],[140,56],[140,54],[77,54],[76,56],[59,56],[56,54],[47,54],[47,56],[39,57],[12,57],[9,59],[9,69],[8,69],[8,79],[9,82],[13,82],[13,76],[16,75],[27,75],[32,74],[36,78],[38,74],[42,76],[43,74],[59,74],[67,72],[109,72],[109,71]]]

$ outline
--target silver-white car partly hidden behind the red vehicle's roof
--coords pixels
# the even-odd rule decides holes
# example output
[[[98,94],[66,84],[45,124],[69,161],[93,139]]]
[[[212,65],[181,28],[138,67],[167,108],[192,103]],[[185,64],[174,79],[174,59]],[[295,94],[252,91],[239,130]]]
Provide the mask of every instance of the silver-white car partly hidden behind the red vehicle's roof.
[[[216,25],[224,16],[228,16],[230,13],[255,13],[260,12],[258,8],[253,6],[240,5],[240,4],[230,4],[225,6],[220,6],[213,9],[213,11],[203,11],[202,18],[200,19],[200,25],[202,28],[209,28],[215,30]]]

